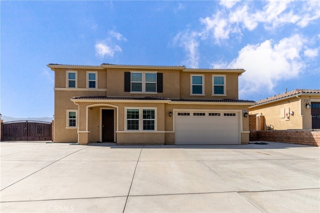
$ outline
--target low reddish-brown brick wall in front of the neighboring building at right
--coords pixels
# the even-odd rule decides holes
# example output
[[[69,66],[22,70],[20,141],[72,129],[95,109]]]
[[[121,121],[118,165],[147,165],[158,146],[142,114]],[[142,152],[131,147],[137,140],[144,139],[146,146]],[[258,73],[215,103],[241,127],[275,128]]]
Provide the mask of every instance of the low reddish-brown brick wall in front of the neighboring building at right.
[[[250,141],[272,141],[320,147],[320,131],[266,130],[250,131]]]

